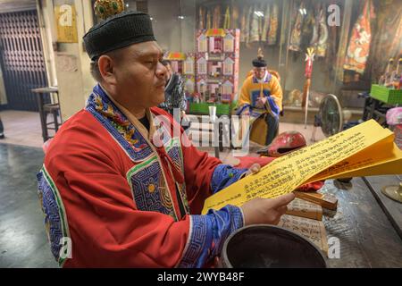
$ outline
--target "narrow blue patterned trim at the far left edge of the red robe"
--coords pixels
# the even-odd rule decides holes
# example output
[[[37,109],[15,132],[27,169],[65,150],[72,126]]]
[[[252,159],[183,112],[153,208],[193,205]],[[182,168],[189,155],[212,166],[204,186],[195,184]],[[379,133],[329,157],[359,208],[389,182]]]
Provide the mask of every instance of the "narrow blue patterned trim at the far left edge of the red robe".
[[[45,165],[38,172],[38,197],[45,214],[47,240],[55,260],[63,267],[69,258],[70,231],[63,201]],[[67,245],[65,245],[67,243]],[[67,250],[67,253],[64,251]]]

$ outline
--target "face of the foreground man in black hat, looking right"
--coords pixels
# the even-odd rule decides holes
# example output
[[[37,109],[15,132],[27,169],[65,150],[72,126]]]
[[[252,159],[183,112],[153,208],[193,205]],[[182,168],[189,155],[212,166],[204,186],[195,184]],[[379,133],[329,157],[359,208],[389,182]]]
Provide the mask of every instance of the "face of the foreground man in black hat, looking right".
[[[136,109],[161,104],[167,73],[161,48],[152,41],[122,48],[120,53],[114,71],[119,103]]]

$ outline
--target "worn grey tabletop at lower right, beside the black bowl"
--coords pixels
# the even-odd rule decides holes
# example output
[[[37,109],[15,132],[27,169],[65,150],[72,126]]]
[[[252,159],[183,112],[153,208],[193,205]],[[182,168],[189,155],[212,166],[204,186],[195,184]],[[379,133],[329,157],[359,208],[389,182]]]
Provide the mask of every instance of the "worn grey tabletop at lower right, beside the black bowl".
[[[372,193],[397,182],[390,177],[354,178],[350,184],[326,181],[322,192],[339,200],[336,214],[328,211],[322,217],[327,238],[338,238],[340,245],[340,257],[328,258],[329,267],[402,267],[402,237]],[[402,204],[395,206],[395,219],[401,222]]]

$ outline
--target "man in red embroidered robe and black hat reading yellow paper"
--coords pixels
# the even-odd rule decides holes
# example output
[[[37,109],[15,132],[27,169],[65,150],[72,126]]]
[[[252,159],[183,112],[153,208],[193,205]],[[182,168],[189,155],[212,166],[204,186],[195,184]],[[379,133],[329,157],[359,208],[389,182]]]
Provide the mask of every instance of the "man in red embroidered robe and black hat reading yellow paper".
[[[84,36],[99,82],[57,132],[38,173],[55,259],[65,267],[202,267],[231,232],[278,223],[289,194],[201,215],[205,198],[247,175],[191,145],[164,100],[163,53],[145,13]],[[177,132],[179,130],[179,132]]]

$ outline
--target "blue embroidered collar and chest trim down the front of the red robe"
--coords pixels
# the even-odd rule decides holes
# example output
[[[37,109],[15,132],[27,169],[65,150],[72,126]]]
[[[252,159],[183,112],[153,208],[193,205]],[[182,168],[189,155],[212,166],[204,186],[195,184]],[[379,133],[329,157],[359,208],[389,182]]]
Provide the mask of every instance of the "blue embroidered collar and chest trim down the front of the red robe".
[[[149,146],[140,130],[133,125],[121,109],[113,103],[104,89],[96,85],[93,93],[88,98],[86,110],[93,114],[101,122],[113,139],[124,150],[127,156],[136,163],[127,172],[126,177],[130,184],[131,193],[139,210],[155,211],[161,214],[171,215],[178,221],[176,209],[172,203],[172,194],[164,178],[162,166],[158,162],[155,151]],[[152,116],[152,114],[151,114]],[[159,122],[158,117],[153,121],[159,128],[166,127]],[[161,132],[161,130],[157,132]],[[162,132],[169,134],[168,130]],[[163,136],[163,146],[171,157],[172,163],[181,173],[184,172],[183,156],[181,154],[180,140]],[[176,184],[180,192],[181,201],[187,213],[189,213],[185,184]]]

